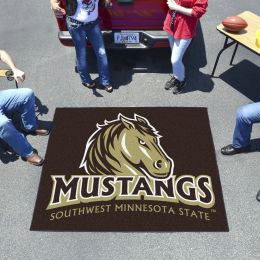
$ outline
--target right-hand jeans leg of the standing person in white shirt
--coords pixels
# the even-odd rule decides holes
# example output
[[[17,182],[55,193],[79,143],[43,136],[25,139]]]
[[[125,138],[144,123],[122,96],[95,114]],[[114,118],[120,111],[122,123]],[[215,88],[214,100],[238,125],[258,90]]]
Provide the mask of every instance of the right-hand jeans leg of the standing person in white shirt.
[[[108,60],[99,24],[90,25],[87,34],[97,57],[100,84],[107,86],[110,84]]]

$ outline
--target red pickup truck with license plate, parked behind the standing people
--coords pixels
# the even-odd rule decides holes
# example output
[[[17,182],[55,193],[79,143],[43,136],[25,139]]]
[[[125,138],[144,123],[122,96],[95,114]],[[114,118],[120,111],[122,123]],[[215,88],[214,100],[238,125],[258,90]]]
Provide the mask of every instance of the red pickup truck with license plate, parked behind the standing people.
[[[102,2],[102,1],[100,1]],[[65,8],[66,0],[61,0]],[[112,7],[99,6],[100,25],[108,49],[149,49],[168,47],[162,30],[168,7],[166,0],[112,0]],[[59,40],[73,46],[65,16],[57,17]]]

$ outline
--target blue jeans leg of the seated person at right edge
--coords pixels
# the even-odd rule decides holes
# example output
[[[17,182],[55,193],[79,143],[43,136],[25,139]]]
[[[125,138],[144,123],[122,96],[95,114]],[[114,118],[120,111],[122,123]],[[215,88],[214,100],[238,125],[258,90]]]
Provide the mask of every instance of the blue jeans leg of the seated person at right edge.
[[[238,108],[236,127],[233,134],[233,147],[241,148],[250,144],[252,125],[260,123],[260,102]]]

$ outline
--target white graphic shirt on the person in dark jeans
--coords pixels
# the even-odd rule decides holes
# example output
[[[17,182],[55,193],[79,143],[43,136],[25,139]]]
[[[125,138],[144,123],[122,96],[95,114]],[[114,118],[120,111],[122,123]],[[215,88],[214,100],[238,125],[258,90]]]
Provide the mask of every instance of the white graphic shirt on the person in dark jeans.
[[[76,13],[71,18],[89,23],[98,18],[98,2],[99,0],[77,0],[78,7]]]

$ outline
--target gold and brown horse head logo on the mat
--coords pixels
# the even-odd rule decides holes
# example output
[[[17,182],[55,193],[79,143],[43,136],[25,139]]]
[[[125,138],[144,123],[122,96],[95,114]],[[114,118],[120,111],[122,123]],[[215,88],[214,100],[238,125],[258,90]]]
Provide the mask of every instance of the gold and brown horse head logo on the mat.
[[[161,136],[149,121],[137,114],[134,119],[118,118],[97,124],[87,141],[80,164],[88,175],[147,176],[166,179],[174,162],[160,145]]]

